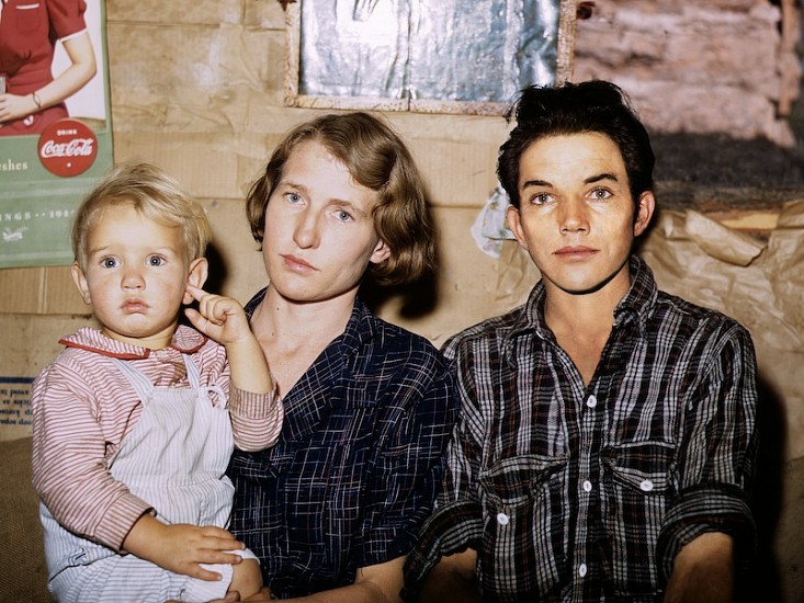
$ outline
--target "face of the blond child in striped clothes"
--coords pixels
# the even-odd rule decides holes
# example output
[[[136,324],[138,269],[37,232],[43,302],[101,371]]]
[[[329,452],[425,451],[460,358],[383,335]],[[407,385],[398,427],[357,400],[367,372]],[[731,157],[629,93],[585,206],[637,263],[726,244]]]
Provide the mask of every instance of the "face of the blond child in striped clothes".
[[[107,337],[146,348],[170,342],[190,272],[181,235],[128,204],[110,207],[90,231],[86,273],[73,266],[73,278]]]

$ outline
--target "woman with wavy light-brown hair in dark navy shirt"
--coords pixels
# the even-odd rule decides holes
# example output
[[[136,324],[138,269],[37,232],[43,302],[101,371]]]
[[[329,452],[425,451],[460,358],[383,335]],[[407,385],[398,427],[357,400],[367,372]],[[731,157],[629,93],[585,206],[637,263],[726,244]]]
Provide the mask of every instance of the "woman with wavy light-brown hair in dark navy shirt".
[[[233,533],[280,599],[398,601],[454,424],[452,373],[427,340],[358,298],[434,263],[421,177],[367,113],[324,115],[279,144],[247,212],[269,284],[247,305],[284,403],[275,446],[236,451]]]

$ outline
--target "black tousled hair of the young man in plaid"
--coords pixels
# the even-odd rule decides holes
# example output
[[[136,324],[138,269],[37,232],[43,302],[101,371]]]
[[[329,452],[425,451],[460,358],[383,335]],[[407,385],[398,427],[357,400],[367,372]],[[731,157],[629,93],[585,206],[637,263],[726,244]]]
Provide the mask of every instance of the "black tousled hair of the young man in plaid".
[[[497,175],[514,207],[520,205],[518,184],[522,153],[531,144],[547,136],[603,134],[620,148],[634,202],[654,187],[655,158],[650,138],[625,92],[611,82],[592,80],[528,87],[506,115],[509,123],[512,118],[516,126],[500,146]]]

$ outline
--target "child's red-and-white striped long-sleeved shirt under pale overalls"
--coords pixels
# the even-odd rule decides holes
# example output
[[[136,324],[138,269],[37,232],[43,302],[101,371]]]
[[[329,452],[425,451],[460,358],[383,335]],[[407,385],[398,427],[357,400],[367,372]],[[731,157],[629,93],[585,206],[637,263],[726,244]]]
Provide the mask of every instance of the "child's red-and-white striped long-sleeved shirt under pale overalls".
[[[186,387],[182,353],[191,354],[201,385],[217,385],[226,394],[238,448],[259,451],[279,437],[279,396],[229,388],[224,346],[190,327],[180,326],[163,350],[112,340],[90,328],[60,343],[67,349],[34,382],[33,482],[58,522],[80,536],[121,550],[134,523],[151,510],[109,473],[109,459],[143,410],[112,359],[135,363],[155,386]]]

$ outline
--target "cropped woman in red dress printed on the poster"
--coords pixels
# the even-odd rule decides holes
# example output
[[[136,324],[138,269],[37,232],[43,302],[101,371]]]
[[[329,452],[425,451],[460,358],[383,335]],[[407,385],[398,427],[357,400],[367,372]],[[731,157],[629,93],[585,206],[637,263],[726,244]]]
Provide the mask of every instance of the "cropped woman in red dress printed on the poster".
[[[97,72],[83,0],[0,0],[0,136],[38,134],[67,117],[65,99]],[[71,65],[54,79],[64,44]]]

